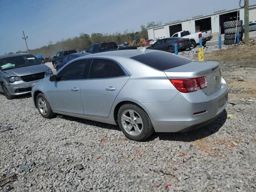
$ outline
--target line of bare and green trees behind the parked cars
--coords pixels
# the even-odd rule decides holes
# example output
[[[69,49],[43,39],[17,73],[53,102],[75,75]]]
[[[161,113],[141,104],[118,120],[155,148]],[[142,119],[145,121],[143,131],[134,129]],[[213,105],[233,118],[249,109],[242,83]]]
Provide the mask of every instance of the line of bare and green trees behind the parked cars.
[[[101,34],[101,33],[92,33],[84,34],[81,33],[79,36],[74,38],[62,39],[55,44],[52,41],[48,42],[47,46],[42,46],[36,49],[29,49],[30,54],[37,55],[42,54],[44,56],[53,56],[57,52],[62,50],[71,50],[75,49],[77,51],[87,50],[89,46],[99,42],[116,42],[119,44],[124,44],[125,42],[129,43],[134,39],[134,36],[140,36],[140,38],[148,39],[148,31],[147,28],[152,26],[157,26],[159,23],[148,22],[147,26],[141,25],[140,31],[138,32],[128,32],[125,30],[123,33],[113,33],[113,34]],[[26,53],[26,51],[19,50],[16,53]],[[5,53],[5,54],[14,54],[13,52]]]

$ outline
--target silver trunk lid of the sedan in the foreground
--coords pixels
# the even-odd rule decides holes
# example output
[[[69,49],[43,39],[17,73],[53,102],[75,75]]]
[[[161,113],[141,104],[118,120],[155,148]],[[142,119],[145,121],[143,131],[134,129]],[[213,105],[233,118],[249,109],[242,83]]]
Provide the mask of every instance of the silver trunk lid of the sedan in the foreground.
[[[202,92],[210,96],[221,88],[221,74],[217,62],[190,62],[188,64],[164,70],[169,79],[196,78],[206,76],[207,87]],[[200,88],[198,88],[200,89]]]

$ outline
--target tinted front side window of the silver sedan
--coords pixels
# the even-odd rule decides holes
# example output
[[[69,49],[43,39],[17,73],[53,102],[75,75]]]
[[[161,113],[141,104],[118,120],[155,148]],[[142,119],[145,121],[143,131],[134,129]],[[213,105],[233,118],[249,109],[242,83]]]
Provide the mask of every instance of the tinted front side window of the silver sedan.
[[[84,79],[87,62],[86,59],[83,59],[68,64],[58,73],[58,79],[60,81]]]

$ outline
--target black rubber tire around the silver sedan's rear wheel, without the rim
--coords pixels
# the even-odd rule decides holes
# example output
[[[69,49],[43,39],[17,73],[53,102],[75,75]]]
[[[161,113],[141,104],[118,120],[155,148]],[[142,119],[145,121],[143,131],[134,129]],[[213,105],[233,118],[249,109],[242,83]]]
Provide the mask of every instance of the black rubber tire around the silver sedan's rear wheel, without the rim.
[[[139,136],[132,136],[132,135],[128,134],[122,127],[120,115],[122,115],[123,111],[127,110],[127,109],[133,109],[133,110],[137,111],[140,114],[140,117],[142,118],[142,120],[143,120],[143,118],[146,118],[146,122],[143,122],[144,128],[143,128],[142,134],[140,134]],[[145,140],[146,138],[150,137],[154,133],[154,127],[152,125],[152,122],[151,122],[148,114],[142,108],[140,108],[140,106],[137,106],[134,104],[124,104],[119,108],[118,124],[119,124],[120,129],[124,133],[124,135],[130,140],[142,141],[142,140]],[[148,126],[146,127],[145,124],[147,124]]]

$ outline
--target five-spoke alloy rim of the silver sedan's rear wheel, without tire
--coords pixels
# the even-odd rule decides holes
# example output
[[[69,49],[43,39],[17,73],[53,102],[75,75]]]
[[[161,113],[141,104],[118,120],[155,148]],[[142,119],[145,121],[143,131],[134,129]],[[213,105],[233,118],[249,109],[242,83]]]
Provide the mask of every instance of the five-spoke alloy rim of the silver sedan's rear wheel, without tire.
[[[134,110],[125,110],[122,114],[121,122],[124,130],[132,136],[138,136],[143,130],[142,118]]]

